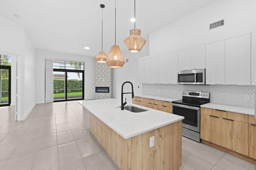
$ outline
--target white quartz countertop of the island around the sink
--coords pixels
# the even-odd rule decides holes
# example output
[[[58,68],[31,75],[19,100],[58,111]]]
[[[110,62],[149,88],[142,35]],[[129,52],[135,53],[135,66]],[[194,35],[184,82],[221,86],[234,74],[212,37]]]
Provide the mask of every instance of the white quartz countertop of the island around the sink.
[[[83,100],[79,103],[124,139],[184,119],[184,117],[179,115],[130,103],[126,105],[148,109],[148,111],[134,113],[125,109],[121,110],[118,107],[121,105],[121,101],[116,99]]]

